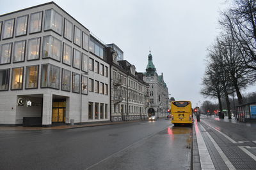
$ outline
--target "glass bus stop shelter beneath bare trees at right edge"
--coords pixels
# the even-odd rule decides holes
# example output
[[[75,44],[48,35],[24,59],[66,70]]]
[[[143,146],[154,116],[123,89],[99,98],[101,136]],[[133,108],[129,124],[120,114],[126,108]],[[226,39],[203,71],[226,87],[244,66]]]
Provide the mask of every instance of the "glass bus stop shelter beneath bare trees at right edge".
[[[256,102],[236,106],[237,122],[256,121]]]

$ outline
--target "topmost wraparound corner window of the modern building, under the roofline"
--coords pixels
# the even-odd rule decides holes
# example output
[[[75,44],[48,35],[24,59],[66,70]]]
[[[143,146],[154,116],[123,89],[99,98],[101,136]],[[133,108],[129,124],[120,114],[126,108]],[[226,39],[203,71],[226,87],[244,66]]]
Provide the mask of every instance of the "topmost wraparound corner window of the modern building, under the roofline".
[[[63,17],[54,10],[45,11],[44,30],[52,30],[61,35]]]

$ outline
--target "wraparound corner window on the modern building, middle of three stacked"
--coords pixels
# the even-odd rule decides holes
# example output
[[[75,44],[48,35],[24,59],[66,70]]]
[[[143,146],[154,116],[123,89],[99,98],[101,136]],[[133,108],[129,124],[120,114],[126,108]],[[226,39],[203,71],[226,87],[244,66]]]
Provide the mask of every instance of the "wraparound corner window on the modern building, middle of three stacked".
[[[53,36],[44,36],[43,58],[60,61],[61,41]]]

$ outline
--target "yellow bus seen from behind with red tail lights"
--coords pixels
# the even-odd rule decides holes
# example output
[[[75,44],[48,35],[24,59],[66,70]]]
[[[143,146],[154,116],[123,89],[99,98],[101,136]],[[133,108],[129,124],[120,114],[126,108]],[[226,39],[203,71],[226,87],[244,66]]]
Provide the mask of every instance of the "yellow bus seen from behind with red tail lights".
[[[193,124],[192,104],[190,101],[172,101],[172,124]]]

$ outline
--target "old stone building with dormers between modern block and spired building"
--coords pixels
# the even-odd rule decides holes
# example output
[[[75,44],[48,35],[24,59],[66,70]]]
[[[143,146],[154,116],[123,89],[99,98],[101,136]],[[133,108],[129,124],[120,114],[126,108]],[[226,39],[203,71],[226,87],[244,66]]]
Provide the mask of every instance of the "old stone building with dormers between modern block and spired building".
[[[115,44],[108,45],[111,89],[111,120],[140,120],[147,118],[148,84],[136,73],[134,65],[118,60],[123,53]],[[115,50],[114,50],[115,49]],[[118,50],[118,51],[116,51]]]

